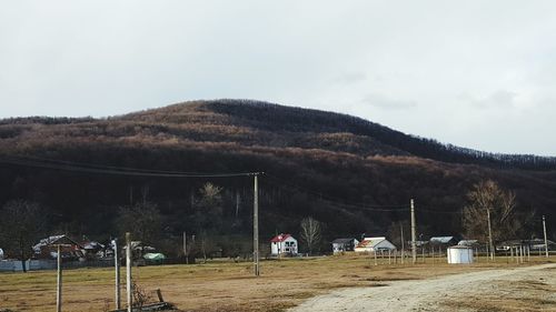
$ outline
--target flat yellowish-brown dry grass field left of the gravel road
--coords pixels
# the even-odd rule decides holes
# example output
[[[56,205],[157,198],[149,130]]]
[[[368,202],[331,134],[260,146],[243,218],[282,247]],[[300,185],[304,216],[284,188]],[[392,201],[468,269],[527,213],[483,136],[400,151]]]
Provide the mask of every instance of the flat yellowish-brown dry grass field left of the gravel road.
[[[535,261],[544,262],[544,259]],[[149,293],[160,289],[165,299],[182,311],[284,311],[339,288],[381,286],[396,280],[515,265],[504,258],[498,258],[496,263],[473,265],[448,265],[439,263],[438,259],[436,263],[427,259],[427,263],[416,265],[387,264],[387,260],[383,260],[375,265],[368,256],[342,255],[264,261],[259,278],[252,276],[251,263],[231,261],[133,268],[133,278]],[[113,309],[113,292],[112,269],[63,272],[63,311]],[[54,306],[54,271],[0,273],[1,309],[23,312],[53,310]]]

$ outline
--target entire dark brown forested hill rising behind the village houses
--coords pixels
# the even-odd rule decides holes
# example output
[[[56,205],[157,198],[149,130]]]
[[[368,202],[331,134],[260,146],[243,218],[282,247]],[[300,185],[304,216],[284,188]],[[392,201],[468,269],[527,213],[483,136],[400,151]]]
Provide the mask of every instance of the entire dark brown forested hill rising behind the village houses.
[[[48,162],[48,165],[44,165]],[[38,165],[42,163],[42,165]],[[0,204],[39,202],[51,227],[115,233],[119,207],[153,202],[170,233],[183,228],[249,233],[251,181],[167,179],[71,171],[64,167],[261,177],[261,231],[297,233],[314,215],[327,233],[384,234],[415,198],[423,233],[458,233],[469,188],[493,179],[515,190],[522,211],[556,207],[556,159],[479,152],[416,138],[346,114],[245,101],[195,101],[106,119],[0,121]],[[222,209],[200,229],[199,188],[222,188]],[[425,211],[428,210],[429,212]]]

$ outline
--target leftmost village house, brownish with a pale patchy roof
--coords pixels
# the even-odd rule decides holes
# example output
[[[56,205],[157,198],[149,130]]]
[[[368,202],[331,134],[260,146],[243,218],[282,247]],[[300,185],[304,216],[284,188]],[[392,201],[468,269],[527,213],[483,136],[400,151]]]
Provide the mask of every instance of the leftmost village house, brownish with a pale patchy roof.
[[[52,235],[39,241],[33,245],[36,259],[56,259],[58,256],[58,245],[61,249],[62,259],[77,260],[83,258],[83,246],[67,235]]]

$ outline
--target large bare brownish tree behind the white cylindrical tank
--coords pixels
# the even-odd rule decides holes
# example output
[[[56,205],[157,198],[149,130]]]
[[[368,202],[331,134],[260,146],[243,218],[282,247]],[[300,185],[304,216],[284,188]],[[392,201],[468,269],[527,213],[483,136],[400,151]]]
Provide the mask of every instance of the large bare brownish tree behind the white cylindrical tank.
[[[469,239],[489,241],[489,222],[493,244],[503,239],[514,239],[523,229],[526,218],[516,214],[516,195],[503,190],[495,181],[481,181],[467,194],[463,225]]]

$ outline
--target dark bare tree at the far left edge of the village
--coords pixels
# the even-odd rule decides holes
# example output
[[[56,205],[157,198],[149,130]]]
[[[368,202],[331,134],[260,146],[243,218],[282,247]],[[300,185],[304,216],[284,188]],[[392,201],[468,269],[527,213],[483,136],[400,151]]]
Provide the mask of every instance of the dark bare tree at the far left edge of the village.
[[[14,200],[2,207],[0,215],[0,242],[27,272],[26,260],[33,255],[32,245],[47,224],[44,213],[34,202]]]

